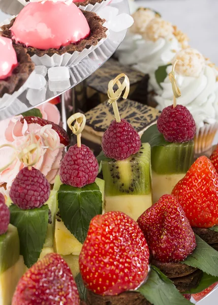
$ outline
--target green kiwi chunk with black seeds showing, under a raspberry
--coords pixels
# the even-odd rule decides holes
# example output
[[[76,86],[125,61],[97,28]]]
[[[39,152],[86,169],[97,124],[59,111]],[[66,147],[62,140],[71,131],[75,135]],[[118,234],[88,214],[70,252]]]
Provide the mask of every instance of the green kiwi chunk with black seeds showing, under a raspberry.
[[[105,195],[148,195],[151,190],[150,145],[123,161],[102,161]]]

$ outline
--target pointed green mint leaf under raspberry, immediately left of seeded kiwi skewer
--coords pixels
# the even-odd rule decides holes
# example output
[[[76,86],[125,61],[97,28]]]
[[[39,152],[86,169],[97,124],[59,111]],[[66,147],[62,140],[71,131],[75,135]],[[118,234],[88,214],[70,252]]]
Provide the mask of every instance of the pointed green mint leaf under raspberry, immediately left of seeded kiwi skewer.
[[[102,214],[102,193],[96,182],[82,188],[61,185],[58,193],[60,217],[68,230],[83,243],[89,223]]]

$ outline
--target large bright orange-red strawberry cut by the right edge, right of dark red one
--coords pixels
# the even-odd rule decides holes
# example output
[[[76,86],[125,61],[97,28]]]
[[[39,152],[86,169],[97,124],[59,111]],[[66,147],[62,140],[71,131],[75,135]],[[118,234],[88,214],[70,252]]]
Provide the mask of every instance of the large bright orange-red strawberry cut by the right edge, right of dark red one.
[[[172,191],[192,227],[218,225],[218,174],[211,161],[201,156]]]

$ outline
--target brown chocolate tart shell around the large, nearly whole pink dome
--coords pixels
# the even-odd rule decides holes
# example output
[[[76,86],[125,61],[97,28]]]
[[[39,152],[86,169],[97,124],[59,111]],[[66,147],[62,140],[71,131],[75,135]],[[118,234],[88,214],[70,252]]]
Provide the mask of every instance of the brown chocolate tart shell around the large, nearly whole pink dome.
[[[59,54],[62,55],[64,53],[70,53],[73,54],[73,52],[78,51],[81,52],[82,50],[89,49],[92,45],[97,45],[98,42],[103,39],[106,38],[106,31],[107,28],[103,26],[103,24],[105,23],[105,19],[101,19],[98,15],[96,15],[96,13],[93,12],[86,12],[81,10],[83,15],[85,16],[88,25],[90,27],[90,35],[85,38],[80,40],[78,43],[76,44],[70,44],[66,47],[60,47],[58,50],[57,49],[48,49],[48,50],[41,50],[41,49],[37,49],[34,47],[25,47],[23,44],[20,43],[15,43],[15,40],[13,41],[14,45],[18,45],[18,46],[22,46],[27,50],[27,53],[30,56],[33,56],[34,54],[36,54],[37,56],[41,57],[45,54],[52,56],[53,54]],[[10,31],[10,28],[12,27],[12,25],[14,24],[16,18],[12,19],[10,24],[6,24],[3,25],[2,28],[2,32],[0,33],[1,36],[7,37],[12,39],[12,34]]]

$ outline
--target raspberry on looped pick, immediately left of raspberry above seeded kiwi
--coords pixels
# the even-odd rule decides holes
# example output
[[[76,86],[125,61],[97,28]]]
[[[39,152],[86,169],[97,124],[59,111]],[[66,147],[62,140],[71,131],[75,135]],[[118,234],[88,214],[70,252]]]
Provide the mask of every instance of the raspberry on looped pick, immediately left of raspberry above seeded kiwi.
[[[71,146],[60,163],[60,180],[75,188],[94,183],[99,172],[99,164],[85,145]]]

